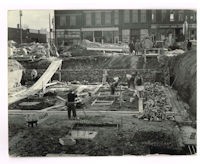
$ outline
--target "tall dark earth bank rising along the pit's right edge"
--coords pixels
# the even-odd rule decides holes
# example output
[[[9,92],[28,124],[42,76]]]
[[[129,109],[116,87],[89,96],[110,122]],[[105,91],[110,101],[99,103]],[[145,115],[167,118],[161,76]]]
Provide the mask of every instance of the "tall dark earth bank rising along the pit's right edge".
[[[174,57],[170,67],[174,75],[174,88],[181,98],[189,103],[190,111],[196,117],[196,50]]]

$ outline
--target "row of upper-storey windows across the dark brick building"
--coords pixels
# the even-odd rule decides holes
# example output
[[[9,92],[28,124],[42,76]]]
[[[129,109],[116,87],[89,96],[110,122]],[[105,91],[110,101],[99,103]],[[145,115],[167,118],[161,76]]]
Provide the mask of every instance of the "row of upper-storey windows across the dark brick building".
[[[105,25],[111,25],[111,11],[104,11],[105,13]],[[69,15],[69,25],[70,26],[76,26],[77,22],[77,15]],[[102,25],[102,12],[95,12],[95,25]],[[165,22],[167,18],[167,11],[162,10],[161,11],[161,21]],[[91,26],[92,25],[92,12],[85,13],[85,25]],[[175,12],[171,11],[169,18],[167,18],[170,22],[175,21]],[[188,19],[195,21],[196,17],[195,15],[191,15]],[[178,21],[183,22],[185,20],[184,11],[178,11]],[[141,10],[140,12],[140,23],[146,23],[146,10]],[[151,21],[152,23],[156,23],[156,10],[152,10],[151,14]],[[132,20],[130,18],[130,10],[124,10],[123,13],[123,22],[124,23],[139,23],[139,14],[138,10],[132,10]],[[119,11],[114,11],[114,25],[119,24]],[[65,15],[60,16],[60,26],[66,26],[67,25],[67,19]]]

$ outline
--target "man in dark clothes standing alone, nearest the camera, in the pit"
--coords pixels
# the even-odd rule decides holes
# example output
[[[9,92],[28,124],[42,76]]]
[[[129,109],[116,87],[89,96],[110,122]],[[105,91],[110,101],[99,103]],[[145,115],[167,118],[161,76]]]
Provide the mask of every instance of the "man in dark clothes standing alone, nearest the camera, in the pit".
[[[77,95],[70,90],[68,95],[67,95],[67,110],[68,110],[68,118],[71,119],[71,112],[73,113],[73,118],[78,119],[76,117],[76,106],[75,106],[75,99]]]

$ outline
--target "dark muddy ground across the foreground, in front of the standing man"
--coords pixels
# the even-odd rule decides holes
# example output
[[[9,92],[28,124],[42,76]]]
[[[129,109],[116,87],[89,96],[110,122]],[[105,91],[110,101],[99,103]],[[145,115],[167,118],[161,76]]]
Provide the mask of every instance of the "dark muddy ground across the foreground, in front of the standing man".
[[[93,140],[80,139],[74,146],[62,146],[59,138],[64,137],[77,122],[68,120],[66,113],[50,115],[45,122],[34,128],[26,126],[24,116],[9,115],[10,155],[46,156],[61,153],[106,156],[184,153],[179,145],[179,130],[174,122],[146,122],[133,116],[80,116],[80,119],[84,119],[83,123],[113,123],[120,126],[87,127],[87,130],[98,132]]]

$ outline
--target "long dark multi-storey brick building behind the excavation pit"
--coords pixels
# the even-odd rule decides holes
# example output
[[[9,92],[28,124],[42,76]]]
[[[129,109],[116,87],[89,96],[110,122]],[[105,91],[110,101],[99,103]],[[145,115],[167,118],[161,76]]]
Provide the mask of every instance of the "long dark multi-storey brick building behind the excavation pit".
[[[56,44],[76,43],[82,39],[96,42],[151,37],[164,40],[183,40],[183,24],[188,22],[188,37],[196,39],[194,10],[56,10]]]

